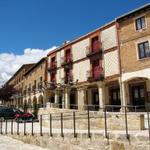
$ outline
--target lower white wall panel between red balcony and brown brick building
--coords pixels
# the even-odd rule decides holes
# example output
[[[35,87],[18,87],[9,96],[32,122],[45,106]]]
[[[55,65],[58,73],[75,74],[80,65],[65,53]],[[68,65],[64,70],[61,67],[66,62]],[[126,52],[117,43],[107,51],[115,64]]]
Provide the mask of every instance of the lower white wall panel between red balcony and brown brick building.
[[[118,50],[104,54],[105,76],[112,76],[119,73]]]

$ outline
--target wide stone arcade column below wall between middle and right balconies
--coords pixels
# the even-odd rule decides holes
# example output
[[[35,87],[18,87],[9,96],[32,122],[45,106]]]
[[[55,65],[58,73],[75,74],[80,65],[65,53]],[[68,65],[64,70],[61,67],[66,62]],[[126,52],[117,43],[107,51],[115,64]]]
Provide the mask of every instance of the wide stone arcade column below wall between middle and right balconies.
[[[84,110],[84,101],[85,101],[85,89],[79,88],[77,90],[78,95],[78,110],[82,111]]]

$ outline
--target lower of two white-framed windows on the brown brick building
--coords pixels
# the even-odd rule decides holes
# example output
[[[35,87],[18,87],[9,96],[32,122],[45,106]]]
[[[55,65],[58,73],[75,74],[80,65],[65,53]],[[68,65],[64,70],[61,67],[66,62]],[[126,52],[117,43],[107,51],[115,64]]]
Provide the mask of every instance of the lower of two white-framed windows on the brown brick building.
[[[138,51],[139,51],[139,58],[146,58],[150,57],[150,48],[149,48],[149,42],[142,42],[138,44]]]

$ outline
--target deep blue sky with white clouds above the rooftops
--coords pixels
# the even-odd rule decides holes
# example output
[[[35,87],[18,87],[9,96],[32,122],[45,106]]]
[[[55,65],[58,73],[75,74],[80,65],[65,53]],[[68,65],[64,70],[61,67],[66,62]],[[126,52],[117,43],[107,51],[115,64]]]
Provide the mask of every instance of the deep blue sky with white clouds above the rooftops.
[[[0,0],[0,85],[24,63],[149,0]]]

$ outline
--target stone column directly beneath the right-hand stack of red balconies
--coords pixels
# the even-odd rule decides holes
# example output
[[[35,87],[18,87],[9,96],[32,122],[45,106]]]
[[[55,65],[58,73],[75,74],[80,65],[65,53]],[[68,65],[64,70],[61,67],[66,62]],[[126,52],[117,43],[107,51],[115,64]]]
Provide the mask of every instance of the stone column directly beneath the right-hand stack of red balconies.
[[[103,108],[105,104],[105,87],[104,84],[98,84],[99,107]]]

